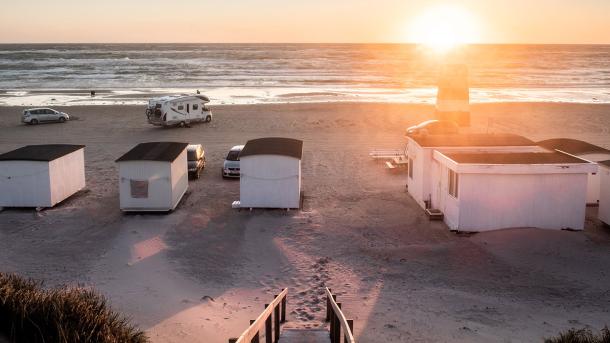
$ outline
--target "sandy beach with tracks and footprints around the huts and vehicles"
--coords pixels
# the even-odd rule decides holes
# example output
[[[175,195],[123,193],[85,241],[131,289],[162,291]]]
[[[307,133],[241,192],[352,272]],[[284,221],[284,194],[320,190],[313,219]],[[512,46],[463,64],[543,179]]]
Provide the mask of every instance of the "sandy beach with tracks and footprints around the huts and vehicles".
[[[59,108],[62,109],[62,108]],[[24,126],[0,107],[0,151],[77,143],[87,188],[42,212],[0,212],[0,270],[47,285],[93,286],[153,342],[226,342],[282,288],[286,327],[323,326],[323,287],[354,319],[359,342],[525,342],[610,324],[610,229],[588,209],[584,232],[510,229],[456,235],[429,222],[368,159],[403,148],[428,105],[213,107],[210,124],[164,129],[140,106],[63,108],[79,120]],[[481,104],[476,130],[534,140],[571,137],[610,148],[610,105]],[[231,209],[228,149],[247,139],[304,140],[301,211]],[[208,164],[171,214],[122,214],[114,160],[145,141],[202,143]]]

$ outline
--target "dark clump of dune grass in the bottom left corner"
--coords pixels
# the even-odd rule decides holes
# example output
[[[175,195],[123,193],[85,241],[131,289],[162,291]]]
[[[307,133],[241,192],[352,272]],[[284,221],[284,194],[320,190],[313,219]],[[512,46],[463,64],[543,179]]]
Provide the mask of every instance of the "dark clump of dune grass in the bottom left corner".
[[[110,309],[91,289],[45,289],[42,283],[0,273],[0,336],[10,342],[140,343],[144,332]]]

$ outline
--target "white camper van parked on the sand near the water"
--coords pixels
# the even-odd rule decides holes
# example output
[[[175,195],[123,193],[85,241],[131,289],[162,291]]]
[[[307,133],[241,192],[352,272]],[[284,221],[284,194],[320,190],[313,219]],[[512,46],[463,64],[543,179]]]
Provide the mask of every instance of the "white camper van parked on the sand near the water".
[[[210,99],[201,94],[172,95],[148,101],[148,122],[159,126],[187,126],[195,122],[209,122],[212,111],[205,105]]]

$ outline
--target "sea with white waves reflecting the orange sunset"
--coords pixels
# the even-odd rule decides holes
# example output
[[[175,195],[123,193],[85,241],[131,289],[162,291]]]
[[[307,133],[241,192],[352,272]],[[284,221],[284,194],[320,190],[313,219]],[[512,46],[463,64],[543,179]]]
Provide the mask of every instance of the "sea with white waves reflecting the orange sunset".
[[[200,90],[213,103],[433,103],[440,67],[465,63],[472,102],[610,103],[610,45],[0,45],[0,104],[140,104]],[[87,96],[96,90],[95,98]]]

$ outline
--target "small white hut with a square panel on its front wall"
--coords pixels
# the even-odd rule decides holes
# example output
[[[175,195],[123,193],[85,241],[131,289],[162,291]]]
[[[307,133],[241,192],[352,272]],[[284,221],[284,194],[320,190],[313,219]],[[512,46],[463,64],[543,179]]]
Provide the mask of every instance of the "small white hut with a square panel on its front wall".
[[[136,145],[116,162],[122,211],[171,211],[188,188],[188,143]]]

